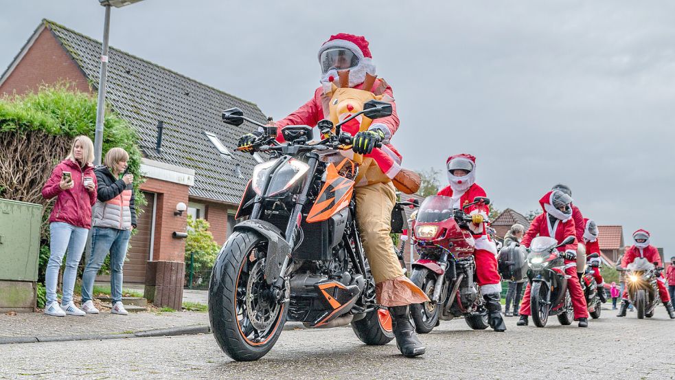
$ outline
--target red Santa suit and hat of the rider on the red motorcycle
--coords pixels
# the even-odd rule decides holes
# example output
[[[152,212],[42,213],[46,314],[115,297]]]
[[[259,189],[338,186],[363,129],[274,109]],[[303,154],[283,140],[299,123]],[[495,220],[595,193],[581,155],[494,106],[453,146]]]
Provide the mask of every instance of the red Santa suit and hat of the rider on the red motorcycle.
[[[439,191],[438,195],[452,198],[455,201],[453,208],[462,208],[467,203],[473,202],[475,197],[486,197],[485,190],[475,183],[476,157],[472,155],[454,155],[448,158],[447,163],[458,157],[470,160],[474,166],[474,170],[471,170],[464,177],[455,177],[448,172],[450,186]],[[482,215],[483,219],[487,221],[490,209],[488,205],[476,204],[470,206],[466,211],[470,215]],[[474,224],[471,227],[471,234],[476,241],[474,258],[476,260],[476,277],[478,284],[481,286],[481,293],[483,295],[501,293],[501,276],[499,276],[499,271],[497,270],[496,245],[494,245],[494,241],[487,234],[485,222]]]

